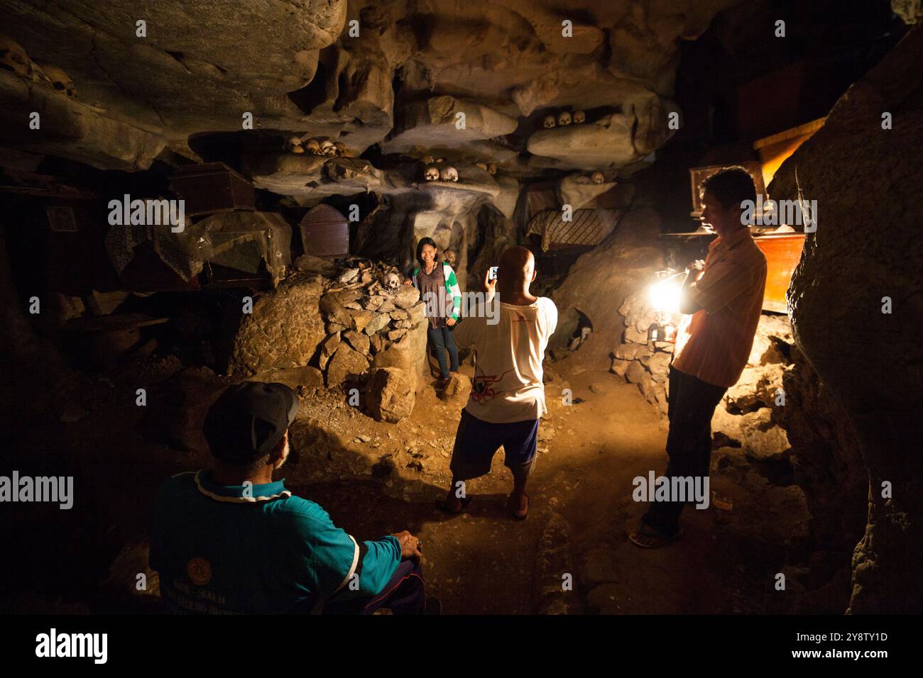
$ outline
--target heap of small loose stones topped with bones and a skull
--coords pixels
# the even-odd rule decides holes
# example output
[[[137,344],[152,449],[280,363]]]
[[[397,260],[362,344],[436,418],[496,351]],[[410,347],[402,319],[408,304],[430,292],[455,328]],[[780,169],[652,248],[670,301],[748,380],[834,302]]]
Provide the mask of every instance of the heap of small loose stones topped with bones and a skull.
[[[372,360],[417,327],[425,318],[424,309],[419,291],[404,284],[396,268],[352,260],[320,298],[327,331],[320,344],[320,369],[328,369],[342,342]]]

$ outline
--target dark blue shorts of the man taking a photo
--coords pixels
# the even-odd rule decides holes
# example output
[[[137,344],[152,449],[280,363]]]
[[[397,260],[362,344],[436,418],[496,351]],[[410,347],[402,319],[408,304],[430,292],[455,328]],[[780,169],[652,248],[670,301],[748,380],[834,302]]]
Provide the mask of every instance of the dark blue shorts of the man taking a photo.
[[[450,469],[455,480],[467,481],[490,472],[490,462],[503,446],[504,465],[513,478],[525,480],[532,473],[538,444],[538,422],[483,422],[468,410],[462,410],[462,421],[455,434]]]

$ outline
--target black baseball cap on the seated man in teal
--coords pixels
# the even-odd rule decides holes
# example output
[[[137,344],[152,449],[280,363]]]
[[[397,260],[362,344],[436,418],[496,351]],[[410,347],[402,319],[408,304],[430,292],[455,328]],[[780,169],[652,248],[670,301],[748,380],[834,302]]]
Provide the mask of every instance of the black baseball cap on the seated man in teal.
[[[246,466],[270,453],[297,411],[298,397],[284,384],[244,381],[215,400],[202,433],[213,457]]]

